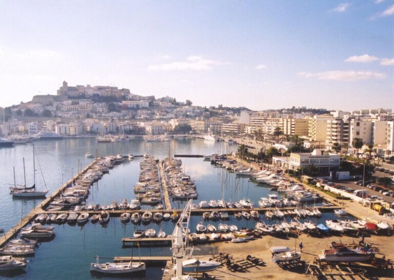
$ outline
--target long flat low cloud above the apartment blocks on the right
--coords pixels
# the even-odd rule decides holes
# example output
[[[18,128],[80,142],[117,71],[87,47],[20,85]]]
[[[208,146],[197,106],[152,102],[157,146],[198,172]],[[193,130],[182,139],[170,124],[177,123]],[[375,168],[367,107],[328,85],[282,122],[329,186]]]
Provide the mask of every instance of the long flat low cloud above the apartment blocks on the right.
[[[317,78],[320,80],[330,80],[330,81],[345,81],[353,82],[360,81],[363,79],[383,79],[386,74],[374,71],[326,71],[319,73],[308,73],[300,72],[300,76],[305,78]]]

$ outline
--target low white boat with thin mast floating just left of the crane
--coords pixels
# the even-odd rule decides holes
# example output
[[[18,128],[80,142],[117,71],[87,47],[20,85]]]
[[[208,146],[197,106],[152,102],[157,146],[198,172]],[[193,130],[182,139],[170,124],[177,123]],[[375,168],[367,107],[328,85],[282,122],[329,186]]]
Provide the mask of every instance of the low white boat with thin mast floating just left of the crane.
[[[90,264],[90,271],[100,272],[103,274],[132,274],[145,271],[146,265],[142,262],[130,261],[129,263],[105,263],[99,264],[99,258],[96,263]]]

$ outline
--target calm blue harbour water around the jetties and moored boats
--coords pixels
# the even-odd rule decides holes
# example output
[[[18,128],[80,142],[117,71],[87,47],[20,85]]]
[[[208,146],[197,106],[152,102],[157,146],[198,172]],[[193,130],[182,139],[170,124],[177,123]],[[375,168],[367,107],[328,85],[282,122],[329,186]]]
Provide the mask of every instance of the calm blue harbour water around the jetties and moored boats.
[[[45,183],[51,193],[75,174],[78,160],[82,166],[86,166],[91,159],[85,158],[86,152],[94,153],[97,149],[99,155],[116,155],[133,153],[139,155],[149,153],[160,159],[167,156],[169,143],[145,143],[142,139],[133,139],[129,143],[96,143],[95,139],[63,139],[61,141],[38,141],[34,143],[38,155]],[[210,154],[223,150],[222,143],[207,142],[202,139],[176,139],[172,141],[172,152],[178,154]],[[228,149],[228,147],[226,148]],[[233,150],[236,148],[233,147]],[[10,229],[22,215],[28,213],[33,207],[41,202],[41,199],[26,200],[13,199],[9,194],[9,185],[13,184],[13,170],[15,167],[16,182],[23,184],[23,157],[26,165],[27,185],[33,182],[32,145],[15,146],[13,148],[0,149],[0,228]],[[101,205],[110,204],[115,199],[132,199],[134,197],[133,186],[137,182],[140,171],[141,159],[125,162],[110,170],[91,189],[88,202]],[[209,161],[202,158],[182,158],[183,168],[196,181],[199,198],[209,201],[221,199],[222,196],[228,201],[237,201],[243,197],[250,197],[257,205],[260,197],[272,193],[269,188],[249,182],[248,178],[236,178],[233,173],[217,168]],[[36,161],[37,188],[45,188],[44,179],[40,167]],[[63,175],[62,175],[63,174]],[[175,208],[183,206],[182,202],[172,202]],[[332,213],[324,213],[319,222],[332,218]],[[190,229],[195,231],[195,226],[202,220],[201,216],[192,216]],[[266,223],[270,221],[263,220]],[[217,227],[221,221],[209,222]],[[254,221],[242,219],[238,221],[230,216],[227,224],[240,227],[254,227]],[[205,222],[207,225],[208,222]],[[87,279],[92,275],[89,265],[94,262],[94,257],[103,257],[101,262],[108,262],[113,256],[131,255],[130,248],[122,248],[122,237],[131,237],[137,228],[161,228],[168,234],[172,233],[172,222],[163,222],[161,225],[149,224],[136,226],[131,223],[123,225],[119,218],[111,218],[106,227],[99,224],[86,224],[85,226],[55,225],[56,237],[51,242],[42,243],[36,250],[35,256],[29,258],[30,263],[26,273],[0,275],[0,278],[29,278],[29,279]],[[206,254],[214,252],[210,246],[201,246],[202,250],[194,251],[194,254]],[[133,249],[133,254],[138,255],[138,249]],[[141,248],[141,255],[170,255],[168,247]],[[149,267],[145,275],[135,279],[160,279],[161,267]]]

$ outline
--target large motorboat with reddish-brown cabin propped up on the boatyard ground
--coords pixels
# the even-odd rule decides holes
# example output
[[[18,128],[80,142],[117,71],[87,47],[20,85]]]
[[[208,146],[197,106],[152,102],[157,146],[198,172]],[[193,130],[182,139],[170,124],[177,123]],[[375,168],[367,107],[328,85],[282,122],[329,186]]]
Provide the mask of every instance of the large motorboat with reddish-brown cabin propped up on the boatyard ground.
[[[350,249],[342,243],[336,242],[332,242],[330,247],[331,249],[323,250],[323,254],[319,255],[321,261],[333,263],[354,263],[368,261],[368,259],[375,256],[373,249],[366,250],[364,247]]]

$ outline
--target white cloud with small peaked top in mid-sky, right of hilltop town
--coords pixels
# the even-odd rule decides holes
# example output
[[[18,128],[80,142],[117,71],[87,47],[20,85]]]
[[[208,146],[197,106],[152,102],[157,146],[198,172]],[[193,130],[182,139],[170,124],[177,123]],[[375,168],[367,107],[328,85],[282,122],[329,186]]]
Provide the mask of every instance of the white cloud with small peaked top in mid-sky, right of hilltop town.
[[[181,62],[171,62],[166,64],[155,64],[148,66],[148,70],[151,71],[204,71],[211,70],[213,66],[224,65],[219,61],[213,61],[210,59],[205,59],[201,56],[191,55],[186,58],[186,61]]]

